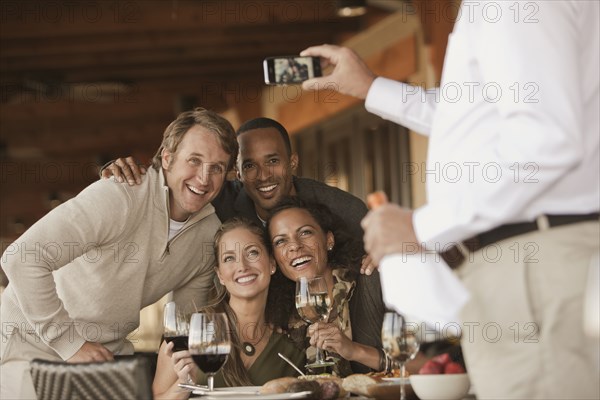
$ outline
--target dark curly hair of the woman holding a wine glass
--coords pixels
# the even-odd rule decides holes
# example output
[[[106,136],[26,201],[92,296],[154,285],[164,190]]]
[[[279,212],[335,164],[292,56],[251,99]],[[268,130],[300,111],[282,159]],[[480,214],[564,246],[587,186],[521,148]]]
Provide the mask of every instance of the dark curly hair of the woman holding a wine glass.
[[[299,197],[284,197],[273,207],[267,220],[265,232],[267,235],[265,242],[269,246],[271,254],[273,254],[273,244],[269,234],[271,221],[280,212],[294,208],[306,210],[323,232],[333,233],[335,246],[327,252],[327,265],[334,270],[345,268],[351,272],[351,278],[355,279],[360,273],[362,247],[356,239],[347,233],[344,221],[332,213],[329,207],[321,203],[304,201]],[[287,326],[290,315],[297,314],[295,294],[296,283],[283,275],[281,268],[277,268],[275,274],[271,276],[265,309],[265,314],[275,325]]]

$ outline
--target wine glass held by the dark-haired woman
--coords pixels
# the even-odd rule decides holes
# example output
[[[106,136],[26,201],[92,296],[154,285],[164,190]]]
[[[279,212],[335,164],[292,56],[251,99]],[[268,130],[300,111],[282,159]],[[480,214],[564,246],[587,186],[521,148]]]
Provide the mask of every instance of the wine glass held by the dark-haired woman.
[[[331,297],[327,290],[327,282],[322,276],[312,279],[301,277],[296,282],[296,309],[300,317],[310,324],[327,321],[331,309]],[[334,365],[326,361],[323,350],[317,347],[315,362],[307,364],[306,368],[322,368]]]

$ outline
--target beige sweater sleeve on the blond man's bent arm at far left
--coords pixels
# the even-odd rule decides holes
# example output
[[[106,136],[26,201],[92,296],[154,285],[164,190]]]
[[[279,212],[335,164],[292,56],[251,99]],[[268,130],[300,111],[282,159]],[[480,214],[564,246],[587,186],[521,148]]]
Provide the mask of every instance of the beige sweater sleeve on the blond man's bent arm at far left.
[[[58,297],[53,272],[81,257],[88,245],[101,246],[122,232],[130,204],[120,186],[110,180],[88,186],[36,222],[2,256],[27,322],[64,360],[85,339],[73,329],[76,322]]]

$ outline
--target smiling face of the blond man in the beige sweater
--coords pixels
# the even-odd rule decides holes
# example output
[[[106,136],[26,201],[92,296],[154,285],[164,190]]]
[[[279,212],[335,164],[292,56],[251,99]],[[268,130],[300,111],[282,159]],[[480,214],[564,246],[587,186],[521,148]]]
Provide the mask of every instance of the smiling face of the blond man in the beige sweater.
[[[177,152],[163,151],[162,167],[170,189],[172,219],[185,221],[217,196],[229,159],[216,134],[200,125],[185,133]]]

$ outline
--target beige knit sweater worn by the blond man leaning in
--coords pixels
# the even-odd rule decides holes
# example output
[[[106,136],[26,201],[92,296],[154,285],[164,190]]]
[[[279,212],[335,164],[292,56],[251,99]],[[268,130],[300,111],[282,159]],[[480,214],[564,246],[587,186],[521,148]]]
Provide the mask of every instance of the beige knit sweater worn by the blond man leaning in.
[[[70,358],[86,340],[127,354],[143,307],[171,290],[179,303],[205,304],[220,222],[209,204],[169,241],[168,193],[154,169],[139,186],[101,180],[28,229],[2,256],[3,333],[35,331],[28,338],[49,359]]]

